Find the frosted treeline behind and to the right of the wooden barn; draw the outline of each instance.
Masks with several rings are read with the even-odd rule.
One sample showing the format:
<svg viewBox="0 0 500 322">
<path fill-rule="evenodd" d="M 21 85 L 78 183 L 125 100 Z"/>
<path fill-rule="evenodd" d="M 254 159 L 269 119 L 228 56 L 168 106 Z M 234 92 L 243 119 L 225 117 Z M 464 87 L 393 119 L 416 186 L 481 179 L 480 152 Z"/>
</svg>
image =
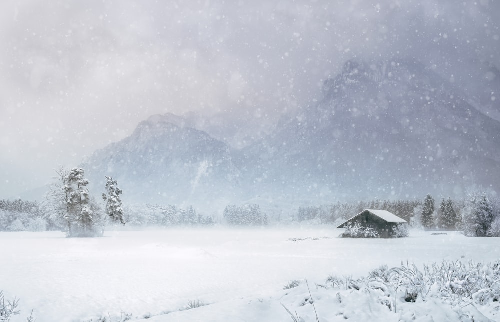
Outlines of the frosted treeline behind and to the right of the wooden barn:
<svg viewBox="0 0 500 322">
<path fill-rule="evenodd" d="M 442 198 L 439 204 L 428 194 L 423 200 L 372 200 L 299 207 L 293 220 L 338 224 L 364 209 L 387 210 L 414 228 L 500 237 L 500 198 L 494 192 L 469 191 L 463 199 Z"/>
</svg>

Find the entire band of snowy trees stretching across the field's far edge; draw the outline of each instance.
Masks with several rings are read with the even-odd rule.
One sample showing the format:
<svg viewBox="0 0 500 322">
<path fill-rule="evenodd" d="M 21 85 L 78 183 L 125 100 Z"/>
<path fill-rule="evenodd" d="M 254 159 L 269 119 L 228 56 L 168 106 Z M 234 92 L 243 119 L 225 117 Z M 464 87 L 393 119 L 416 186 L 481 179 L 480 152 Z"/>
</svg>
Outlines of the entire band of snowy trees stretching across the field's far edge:
<svg viewBox="0 0 500 322">
<path fill-rule="evenodd" d="M 66 178 L 67 176 L 64 176 Z M 270 222 L 257 204 L 230 204 L 216 218 L 196 212 L 192 206 L 186 209 L 175 205 L 125 204 L 121 207 L 115 180 L 108 178 L 103 195 L 108 220 L 126 222 L 128 227 L 211 226 L 215 223 L 233 226 L 261 226 Z M 67 189 L 68 185 L 61 185 Z M 81 184 L 80 184 L 81 186 Z M 61 189 L 57 190 L 61 191 Z M 62 190 L 64 192 L 64 190 Z M 17 200 L 0 200 L 0 231 L 68 231 L 68 224 L 81 227 L 81 215 L 67 212 L 71 199 L 64 193 L 43 203 Z M 70 195 L 70 194 L 69 194 Z M 54 202 L 58 201 L 58 202 Z M 78 201 L 81 198 L 78 198 Z M 92 199 L 90 199 L 92 201 Z M 94 201 L 92 201 L 94 202 Z M 119 203 L 118 203 L 119 202 Z M 75 202 L 75 204 L 77 204 Z M 92 220 L 103 212 L 99 206 L 88 207 Z M 82 209 L 86 210 L 85 207 Z M 463 199 L 442 198 L 436 202 L 430 194 L 422 200 L 370 200 L 351 203 L 331 203 L 299 207 L 290 216 L 273 217 L 272 223 L 291 221 L 316 224 L 339 224 L 364 209 L 387 210 L 405 219 L 413 228 L 425 230 L 458 230 L 468 236 L 500 237 L 500 198 L 495 193 L 469 191 Z M 79 211 L 78 213 L 85 213 Z M 113 217 L 114 216 L 114 217 Z M 104 215 L 102 214 L 102 217 Z M 69 220 L 68 220 L 69 218 Z M 72 219 L 74 218 L 74 219 Z M 83 217 L 85 219 L 85 217 Z M 120 220 L 117 220 L 120 219 Z"/>
</svg>

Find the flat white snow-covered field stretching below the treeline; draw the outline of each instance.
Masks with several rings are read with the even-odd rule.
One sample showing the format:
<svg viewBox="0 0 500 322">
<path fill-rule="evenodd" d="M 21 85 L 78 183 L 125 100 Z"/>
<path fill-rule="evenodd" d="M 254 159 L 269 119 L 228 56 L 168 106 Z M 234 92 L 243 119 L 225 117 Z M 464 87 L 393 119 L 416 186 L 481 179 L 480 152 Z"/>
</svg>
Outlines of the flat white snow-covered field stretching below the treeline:
<svg viewBox="0 0 500 322">
<path fill-rule="evenodd" d="M 499 238 L 412 231 L 401 239 L 340 239 L 339 233 L 331 226 L 108 231 L 104 238 L 1 232 L 0 290 L 20 298 L 14 322 L 25 321 L 31 309 L 37 322 L 117 321 L 125 313 L 149 321 L 292 321 L 282 304 L 315 321 L 305 283 L 282 289 L 307 279 L 320 321 L 397 321 L 413 318 L 404 305 L 415 303 L 398 304 L 394 313 L 348 290 L 339 301 L 339 291 L 316 284 L 332 274 L 366 276 L 383 264 L 500 259 Z M 205 306 L 180 311 L 198 300 Z M 419 307 L 417 320 L 456 319 L 449 305 Z M 494 320 L 498 309 L 491 304 L 483 313 Z"/>
</svg>

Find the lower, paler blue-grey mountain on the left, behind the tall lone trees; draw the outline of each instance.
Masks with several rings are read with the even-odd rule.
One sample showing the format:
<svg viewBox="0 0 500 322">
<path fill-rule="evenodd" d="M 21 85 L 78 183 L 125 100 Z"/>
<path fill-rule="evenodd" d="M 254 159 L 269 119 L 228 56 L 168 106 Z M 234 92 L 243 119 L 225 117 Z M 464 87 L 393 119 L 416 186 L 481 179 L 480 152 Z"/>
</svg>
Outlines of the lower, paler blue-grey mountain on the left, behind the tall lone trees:
<svg viewBox="0 0 500 322">
<path fill-rule="evenodd" d="M 103 187 L 109 175 L 131 201 L 209 206 L 237 190 L 233 153 L 179 117 L 154 115 L 129 137 L 93 153 L 82 167 L 93 189 Z"/>
</svg>

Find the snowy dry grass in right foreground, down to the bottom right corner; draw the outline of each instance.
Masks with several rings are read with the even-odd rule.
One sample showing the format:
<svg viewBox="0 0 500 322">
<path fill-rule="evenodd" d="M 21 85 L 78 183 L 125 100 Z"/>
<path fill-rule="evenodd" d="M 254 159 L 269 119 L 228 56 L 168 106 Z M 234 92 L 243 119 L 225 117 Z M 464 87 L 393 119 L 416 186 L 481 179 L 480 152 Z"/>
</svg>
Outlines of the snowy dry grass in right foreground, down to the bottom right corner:
<svg viewBox="0 0 500 322">
<path fill-rule="evenodd" d="M 487 321 L 480 311 L 492 304 L 495 307 L 487 314 L 500 317 L 497 303 L 500 301 L 500 261 L 488 264 L 443 261 L 424 265 L 423 270 L 414 264 L 382 266 L 364 278 L 330 276 L 326 283 L 330 289 L 339 290 L 335 295 L 339 304 L 351 306 L 346 301 L 352 300 L 354 292 L 359 295 L 354 298 L 368 296 L 403 320 L 421 318 L 418 311 L 425 310 L 423 307 L 430 303 L 449 305 L 448 308 L 441 305 L 443 311 L 448 311 L 442 313 L 442 320 L 453 320 L 449 316 L 451 309 L 456 320 Z M 338 315 L 348 318 L 345 312 L 337 312 Z M 352 312 L 347 315 L 352 316 Z M 435 316 L 434 319 L 439 320 Z"/>
</svg>

